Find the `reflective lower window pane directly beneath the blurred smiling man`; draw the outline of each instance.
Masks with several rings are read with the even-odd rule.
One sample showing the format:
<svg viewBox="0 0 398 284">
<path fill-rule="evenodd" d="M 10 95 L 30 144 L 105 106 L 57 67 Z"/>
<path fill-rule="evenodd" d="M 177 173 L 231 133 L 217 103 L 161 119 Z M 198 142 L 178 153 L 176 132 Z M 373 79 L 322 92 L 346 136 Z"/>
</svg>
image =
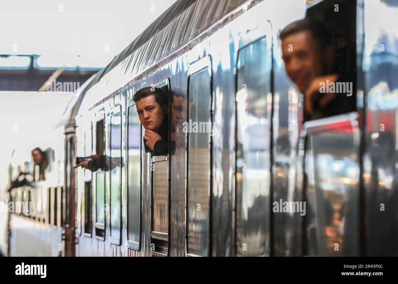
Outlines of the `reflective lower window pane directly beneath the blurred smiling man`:
<svg viewBox="0 0 398 284">
<path fill-rule="evenodd" d="M 304 123 L 303 131 L 306 133 L 306 204 L 302 206 L 306 232 L 304 254 L 359 255 L 360 138 L 357 114 L 309 121 Z"/>
</svg>

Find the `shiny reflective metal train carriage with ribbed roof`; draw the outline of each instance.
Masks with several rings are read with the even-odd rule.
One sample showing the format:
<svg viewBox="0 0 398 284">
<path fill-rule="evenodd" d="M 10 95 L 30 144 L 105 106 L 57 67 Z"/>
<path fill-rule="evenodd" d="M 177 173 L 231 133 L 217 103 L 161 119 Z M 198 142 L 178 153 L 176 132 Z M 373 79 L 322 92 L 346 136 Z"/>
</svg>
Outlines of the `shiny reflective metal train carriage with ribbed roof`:
<svg viewBox="0 0 398 284">
<path fill-rule="evenodd" d="M 397 2 L 299 2 L 179 1 L 81 87 L 59 128 L 64 182 L 48 185 L 64 204 L 49 255 L 398 255 Z M 278 33 L 310 13 L 345 19 L 357 112 L 302 124 Z M 145 86 L 174 96 L 166 157 L 143 151 L 131 98 Z M 190 118 L 213 133 L 186 133 Z M 73 169 L 100 148 L 107 170 Z M 305 215 L 279 212 L 303 201 Z M 13 215 L 14 255 L 60 231 Z"/>
</svg>

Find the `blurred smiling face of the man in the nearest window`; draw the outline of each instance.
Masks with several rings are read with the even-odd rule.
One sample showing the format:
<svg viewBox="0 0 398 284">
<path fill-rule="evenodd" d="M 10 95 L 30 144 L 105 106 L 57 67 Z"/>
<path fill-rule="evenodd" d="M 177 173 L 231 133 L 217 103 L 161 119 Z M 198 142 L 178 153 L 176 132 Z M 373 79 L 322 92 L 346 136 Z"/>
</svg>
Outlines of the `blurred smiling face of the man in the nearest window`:
<svg viewBox="0 0 398 284">
<path fill-rule="evenodd" d="M 286 72 L 304 93 L 311 81 L 322 75 L 322 52 L 309 31 L 293 33 L 281 42 Z"/>
</svg>

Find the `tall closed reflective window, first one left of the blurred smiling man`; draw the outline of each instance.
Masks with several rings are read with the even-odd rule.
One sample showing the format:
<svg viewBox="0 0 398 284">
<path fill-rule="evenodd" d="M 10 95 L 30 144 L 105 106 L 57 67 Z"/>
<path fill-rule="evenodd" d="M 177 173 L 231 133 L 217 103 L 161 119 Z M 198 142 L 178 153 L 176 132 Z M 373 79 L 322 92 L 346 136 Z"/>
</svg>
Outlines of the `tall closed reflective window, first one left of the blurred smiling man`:
<svg viewBox="0 0 398 284">
<path fill-rule="evenodd" d="M 236 255 L 269 255 L 271 43 L 238 51 L 236 76 Z"/>
</svg>

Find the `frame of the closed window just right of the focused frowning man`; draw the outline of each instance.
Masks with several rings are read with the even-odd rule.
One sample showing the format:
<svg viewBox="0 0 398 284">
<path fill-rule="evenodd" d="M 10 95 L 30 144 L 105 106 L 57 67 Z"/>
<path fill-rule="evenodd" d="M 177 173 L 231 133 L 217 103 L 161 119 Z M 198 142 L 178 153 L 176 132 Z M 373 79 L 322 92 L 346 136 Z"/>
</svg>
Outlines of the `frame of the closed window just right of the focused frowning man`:
<svg viewBox="0 0 398 284">
<path fill-rule="evenodd" d="M 188 67 L 188 76 L 187 76 L 187 121 L 189 121 L 189 81 L 192 75 L 207 69 L 210 75 L 210 121 L 214 123 L 214 105 L 215 98 L 213 94 L 213 65 L 212 59 L 210 55 L 206 55 L 201 59 L 191 63 Z M 186 182 L 185 182 L 185 256 L 189 257 L 199 257 L 199 255 L 195 255 L 193 253 L 188 252 L 188 219 L 189 219 L 189 208 L 188 208 L 188 196 L 189 196 L 189 133 L 186 133 L 187 137 L 187 148 L 186 148 Z M 213 202 L 213 136 L 210 136 L 210 196 L 209 196 L 209 254 L 207 256 L 212 255 L 212 202 Z"/>
</svg>

